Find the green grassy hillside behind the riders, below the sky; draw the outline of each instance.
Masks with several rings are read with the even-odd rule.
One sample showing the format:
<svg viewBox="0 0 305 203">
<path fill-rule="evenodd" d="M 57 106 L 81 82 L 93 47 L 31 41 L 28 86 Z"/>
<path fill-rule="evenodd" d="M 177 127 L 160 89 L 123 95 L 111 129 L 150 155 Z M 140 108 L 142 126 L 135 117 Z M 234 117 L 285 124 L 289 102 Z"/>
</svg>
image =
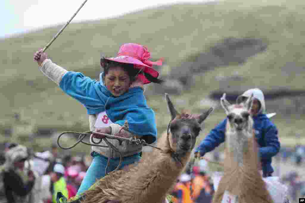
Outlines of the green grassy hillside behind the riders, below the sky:
<svg viewBox="0 0 305 203">
<path fill-rule="evenodd" d="M 183 101 L 194 111 L 208 105 L 198 102 L 219 88 L 215 77 L 234 71 L 247 78 L 247 86 L 267 89 L 285 86 L 304 89 L 303 36 L 305 2 L 286 1 L 224 1 L 210 4 L 181 4 L 134 12 L 118 18 L 71 23 L 46 51 L 57 64 L 68 70 L 80 71 L 97 78 L 100 56 L 114 56 L 120 45 L 133 42 L 149 48 L 153 58 L 164 57 L 174 67 L 189 56 L 207 51 L 224 38 L 259 38 L 267 50 L 248 59 L 244 65 L 219 67 L 196 76 L 196 85 L 185 90 Z M 43 48 L 62 27 L 50 27 L 17 37 L 0 40 L 0 125 L 9 127 L 13 115 L 20 113 L 21 121 L 34 128 L 88 130 L 84 107 L 63 94 L 55 83 L 46 78 L 33 62 L 33 53 Z M 293 62 L 297 72 L 285 68 Z M 163 96 L 149 96 L 149 105 L 156 111 L 157 127 L 166 128 L 169 114 Z M 268 105 L 268 104 L 267 104 Z M 224 117 L 217 109 L 206 121 L 204 136 Z M 303 130 L 304 116 L 277 115 L 274 122 L 282 137 Z M 293 134 L 294 135 L 294 134 Z M 284 138 L 283 138 L 284 139 Z"/>
</svg>

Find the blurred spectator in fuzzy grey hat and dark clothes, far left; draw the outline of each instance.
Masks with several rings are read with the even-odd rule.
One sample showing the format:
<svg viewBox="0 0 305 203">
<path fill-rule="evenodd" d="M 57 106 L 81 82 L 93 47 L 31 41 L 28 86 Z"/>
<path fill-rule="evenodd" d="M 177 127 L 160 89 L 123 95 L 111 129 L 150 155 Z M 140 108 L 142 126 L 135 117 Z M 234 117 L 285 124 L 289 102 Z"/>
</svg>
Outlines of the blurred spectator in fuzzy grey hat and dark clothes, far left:
<svg viewBox="0 0 305 203">
<path fill-rule="evenodd" d="M 30 200 L 35 184 L 33 171 L 25 170 L 28 161 L 28 150 L 23 145 L 14 145 L 5 152 L 3 165 L 3 186 L 8 203 L 21 203 Z"/>
</svg>

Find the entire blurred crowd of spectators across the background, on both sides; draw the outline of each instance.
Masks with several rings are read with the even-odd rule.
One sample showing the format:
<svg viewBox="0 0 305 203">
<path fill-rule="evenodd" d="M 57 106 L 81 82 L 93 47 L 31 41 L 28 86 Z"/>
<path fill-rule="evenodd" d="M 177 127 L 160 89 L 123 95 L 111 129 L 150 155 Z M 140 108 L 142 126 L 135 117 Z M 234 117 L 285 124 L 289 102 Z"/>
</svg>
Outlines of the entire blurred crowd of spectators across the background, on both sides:
<svg viewBox="0 0 305 203">
<path fill-rule="evenodd" d="M 305 148 L 282 148 L 282 161 L 291 161 L 302 167 Z M 219 160 L 219 153 L 213 156 Z M 17 143 L 4 143 L 0 153 L 0 203 L 56 203 L 56 194 L 74 197 L 90 166 L 92 157 L 58 155 L 57 145 L 44 152 Z M 305 196 L 302 175 L 292 171 L 283 176 L 292 201 Z M 213 182 L 206 160 L 189 164 L 171 191 L 173 203 L 209 203 L 214 194 Z"/>
</svg>

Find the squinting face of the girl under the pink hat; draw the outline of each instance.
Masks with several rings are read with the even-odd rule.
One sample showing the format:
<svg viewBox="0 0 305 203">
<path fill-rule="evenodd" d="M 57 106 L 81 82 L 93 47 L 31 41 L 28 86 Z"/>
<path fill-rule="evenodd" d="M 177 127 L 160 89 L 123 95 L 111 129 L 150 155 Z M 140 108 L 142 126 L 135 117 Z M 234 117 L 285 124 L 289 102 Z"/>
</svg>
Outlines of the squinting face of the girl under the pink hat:
<svg viewBox="0 0 305 203">
<path fill-rule="evenodd" d="M 109 68 L 104 79 L 107 89 L 117 97 L 128 91 L 131 84 L 129 75 L 120 66 Z"/>
</svg>

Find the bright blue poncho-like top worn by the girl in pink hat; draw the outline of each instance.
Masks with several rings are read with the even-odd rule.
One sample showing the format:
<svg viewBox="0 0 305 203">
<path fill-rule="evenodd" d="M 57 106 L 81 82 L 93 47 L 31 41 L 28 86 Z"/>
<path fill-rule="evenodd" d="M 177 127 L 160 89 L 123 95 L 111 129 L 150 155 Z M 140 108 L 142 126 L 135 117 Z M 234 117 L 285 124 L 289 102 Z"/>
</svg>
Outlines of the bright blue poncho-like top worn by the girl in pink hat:
<svg viewBox="0 0 305 203">
<path fill-rule="evenodd" d="M 127 120 L 130 132 L 144 136 L 143 139 L 148 143 L 156 141 L 155 113 L 147 106 L 142 88 L 133 87 L 121 96 L 114 97 L 102 81 L 92 80 L 73 71 L 63 75 L 59 87 L 82 103 L 88 114 L 99 114 L 106 110 L 113 123 L 123 126 Z"/>
</svg>

